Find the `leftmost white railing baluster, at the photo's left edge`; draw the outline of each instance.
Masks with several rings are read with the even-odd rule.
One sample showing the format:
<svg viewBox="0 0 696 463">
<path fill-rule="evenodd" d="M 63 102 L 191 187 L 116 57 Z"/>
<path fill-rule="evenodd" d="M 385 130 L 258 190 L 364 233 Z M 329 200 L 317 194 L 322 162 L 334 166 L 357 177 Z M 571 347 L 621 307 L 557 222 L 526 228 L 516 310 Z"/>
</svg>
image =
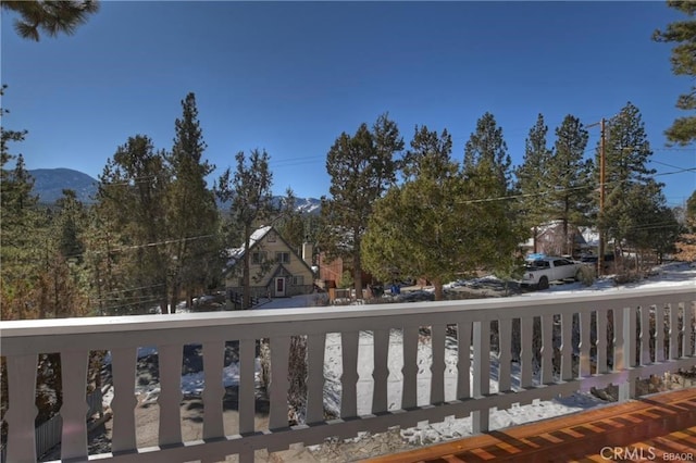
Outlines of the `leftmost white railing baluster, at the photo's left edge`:
<svg viewBox="0 0 696 463">
<path fill-rule="evenodd" d="M 8 356 L 8 462 L 34 463 L 36 459 L 36 355 Z"/>
</svg>

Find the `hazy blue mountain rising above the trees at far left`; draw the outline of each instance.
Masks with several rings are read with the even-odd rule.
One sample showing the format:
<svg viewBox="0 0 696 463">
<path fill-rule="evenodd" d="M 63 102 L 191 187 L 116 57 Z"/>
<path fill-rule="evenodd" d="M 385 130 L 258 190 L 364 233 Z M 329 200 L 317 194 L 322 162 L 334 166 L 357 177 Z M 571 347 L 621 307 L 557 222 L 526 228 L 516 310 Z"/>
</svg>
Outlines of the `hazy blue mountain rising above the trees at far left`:
<svg viewBox="0 0 696 463">
<path fill-rule="evenodd" d="M 63 196 L 64 189 L 74 190 L 77 199 L 85 203 L 94 201 L 97 179 L 72 168 L 35 168 L 28 171 L 34 177 L 34 195 L 39 202 L 52 204 Z"/>
</svg>

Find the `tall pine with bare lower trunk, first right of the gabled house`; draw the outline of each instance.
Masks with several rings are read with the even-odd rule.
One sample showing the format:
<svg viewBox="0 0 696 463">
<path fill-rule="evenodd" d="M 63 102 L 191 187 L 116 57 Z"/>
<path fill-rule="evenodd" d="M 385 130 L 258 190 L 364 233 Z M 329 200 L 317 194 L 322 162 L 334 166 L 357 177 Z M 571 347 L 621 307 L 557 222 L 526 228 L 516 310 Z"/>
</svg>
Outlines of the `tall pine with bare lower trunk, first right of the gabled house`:
<svg viewBox="0 0 696 463">
<path fill-rule="evenodd" d="M 361 124 L 353 136 L 343 133 L 326 155 L 331 198 L 322 198 L 322 250 L 352 263 L 356 295 L 362 293 L 362 235 L 374 201 L 396 182 L 395 155 L 403 140 L 387 114 L 372 129 Z M 358 296 L 360 297 L 360 296 Z"/>
</svg>

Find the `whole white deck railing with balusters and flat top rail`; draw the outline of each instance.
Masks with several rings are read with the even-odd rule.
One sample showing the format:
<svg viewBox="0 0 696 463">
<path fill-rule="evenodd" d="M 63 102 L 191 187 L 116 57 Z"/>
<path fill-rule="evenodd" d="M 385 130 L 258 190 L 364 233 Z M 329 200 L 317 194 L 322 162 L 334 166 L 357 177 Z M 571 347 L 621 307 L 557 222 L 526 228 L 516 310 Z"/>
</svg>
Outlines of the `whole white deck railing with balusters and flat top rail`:
<svg viewBox="0 0 696 463">
<path fill-rule="evenodd" d="M 278 451 L 295 442 L 314 445 L 327 437 L 439 422 L 471 415 L 474 431 L 488 429 L 492 408 L 551 399 L 592 387 L 619 386 L 620 399 L 635 395 L 635 379 L 696 366 L 696 290 L 617 290 L 548 299 L 525 297 L 410 304 L 257 310 L 245 312 L 91 317 L 2 322 L 1 353 L 7 358 L 9 425 L 7 460 L 35 462 L 37 356 L 60 352 L 63 377 L 61 459 L 85 461 L 85 414 L 89 351 L 112 358 L 112 453 L 117 462 L 212 462 L 254 450 Z M 657 321 L 651 326 L 651 321 Z M 664 324 L 661 323 L 664 321 Z M 432 349 L 430 400 L 422 398 L 417 353 L 427 327 Z M 657 329 L 656 329 L 657 327 Z M 664 327 L 664 329 L 661 329 Z M 395 331 L 396 330 L 396 331 Z M 373 338 L 371 413 L 358 414 L 360 333 Z M 403 366 L 389 370 L 389 336 L 402 338 Z M 327 334 L 340 334 L 343 375 L 340 417 L 324 421 L 324 352 Z M 494 335 L 492 337 L 492 335 Z M 291 336 L 307 336 L 307 425 L 288 426 L 288 351 Z M 270 339 L 271 385 L 268 429 L 254 428 L 257 340 Z M 493 339 L 493 341 L 492 341 Z M 225 342 L 239 343 L 238 423 L 225 434 L 222 383 Z M 456 365 L 445 353 L 455 342 Z M 203 346 L 203 439 L 182 439 L 179 403 L 184 345 Z M 159 446 L 138 449 L 134 417 L 138 347 L 157 346 L 161 393 Z M 494 362 L 489 352 L 494 352 Z M 359 360 L 361 359 L 361 360 Z M 493 368 L 493 370 L 492 370 Z M 446 370 L 455 371 L 456 399 L 446 401 Z M 513 371 L 519 372 L 514 375 Z M 498 390 L 490 390 L 490 375 Z M 387 405 L 398 378 L 400 406 Z M 422 376 L 421 376 L 422 379 Z M 419 390 L 419 388 L 421 390 Z M 450 395 L 451 396 L 451 395 Z M 94 456 L 92 456 L 94 458 Z"/>
</svg>

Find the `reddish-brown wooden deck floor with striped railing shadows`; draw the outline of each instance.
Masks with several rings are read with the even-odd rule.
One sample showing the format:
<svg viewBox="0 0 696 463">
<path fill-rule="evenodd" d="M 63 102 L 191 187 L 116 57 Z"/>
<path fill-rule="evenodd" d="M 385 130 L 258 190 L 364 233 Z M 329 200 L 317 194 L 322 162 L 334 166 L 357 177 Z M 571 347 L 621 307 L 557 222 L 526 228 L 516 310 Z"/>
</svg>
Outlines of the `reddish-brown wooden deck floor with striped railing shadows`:
<svg viewBox="0 0 696 463">
<path fill-rule="evenodd" d="M 371 460 L 696 462 L 696 387 Z"/>
</svg>

